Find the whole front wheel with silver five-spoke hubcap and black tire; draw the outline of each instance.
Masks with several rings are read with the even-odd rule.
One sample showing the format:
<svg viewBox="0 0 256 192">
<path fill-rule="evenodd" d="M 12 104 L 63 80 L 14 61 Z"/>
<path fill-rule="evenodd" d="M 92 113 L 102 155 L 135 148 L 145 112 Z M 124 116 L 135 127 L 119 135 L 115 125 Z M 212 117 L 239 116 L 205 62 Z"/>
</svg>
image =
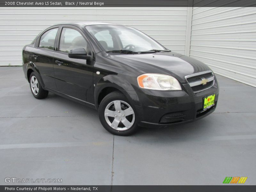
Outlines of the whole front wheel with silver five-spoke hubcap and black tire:
<svg viewBox="0 0 256 192">
<path fill-rule="evenodd" d="M 138 129 L 138 118 L 136 118 L 136 112 L 132 106 L 124 94 L 120 92 L 109 93 L 100 102 L 99 118 L 101 124 L 114 135 L 128 136 L 135 133 Z"/>
</svg>

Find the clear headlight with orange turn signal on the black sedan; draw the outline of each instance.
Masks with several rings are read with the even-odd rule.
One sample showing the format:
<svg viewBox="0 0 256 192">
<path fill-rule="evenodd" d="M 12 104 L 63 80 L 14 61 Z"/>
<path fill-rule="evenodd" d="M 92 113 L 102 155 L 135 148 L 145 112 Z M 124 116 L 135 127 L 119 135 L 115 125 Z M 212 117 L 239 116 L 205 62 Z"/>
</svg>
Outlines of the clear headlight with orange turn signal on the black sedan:
<svg viewBox="0 0 256 192">
<path fill-rule="evenodd" d="M 144 89 L 174 91 L 181 90 L 180 83 L 170 75 L 146 73 L 137 77 L 138 84 Z"/>
</svg>

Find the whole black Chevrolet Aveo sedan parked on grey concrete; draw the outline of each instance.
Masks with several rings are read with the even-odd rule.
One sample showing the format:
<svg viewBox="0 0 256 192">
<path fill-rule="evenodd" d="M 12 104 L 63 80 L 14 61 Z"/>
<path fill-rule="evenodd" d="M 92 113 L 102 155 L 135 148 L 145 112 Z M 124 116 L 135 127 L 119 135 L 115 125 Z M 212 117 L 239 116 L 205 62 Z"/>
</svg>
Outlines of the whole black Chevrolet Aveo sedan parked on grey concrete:
<svg viewBox="0 0 256 192">
<path fill-rule="evenodd" d="M 36 99 L 50 91 L 96 108 L 104 128 L 123 136 L 207 116 L 219 96 L 204 63 L 107 23 L 45 29 L 23 48 L 23 70 Z"/>
</svg>

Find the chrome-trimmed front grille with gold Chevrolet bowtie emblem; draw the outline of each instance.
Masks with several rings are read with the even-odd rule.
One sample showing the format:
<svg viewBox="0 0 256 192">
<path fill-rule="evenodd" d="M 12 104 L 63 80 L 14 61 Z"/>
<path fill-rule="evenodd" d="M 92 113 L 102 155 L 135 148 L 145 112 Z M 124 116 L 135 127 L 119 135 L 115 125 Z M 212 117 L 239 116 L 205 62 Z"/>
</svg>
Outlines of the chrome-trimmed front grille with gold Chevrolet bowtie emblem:
<svg viewBox="0 0 256 192">
<path fill-rule="evenodd" d="M 212 87 L 214 75 L 212 71 L 204 71 L 185 76 L 193 92 L 200 92 Z"/>
</svg>

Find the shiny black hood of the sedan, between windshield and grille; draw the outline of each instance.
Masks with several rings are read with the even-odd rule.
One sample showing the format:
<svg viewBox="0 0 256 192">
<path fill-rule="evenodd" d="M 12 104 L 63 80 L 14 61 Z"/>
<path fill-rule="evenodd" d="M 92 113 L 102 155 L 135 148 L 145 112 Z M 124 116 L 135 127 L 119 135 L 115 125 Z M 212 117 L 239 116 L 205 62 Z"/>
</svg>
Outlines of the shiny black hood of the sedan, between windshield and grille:
<svg viewBox="0 0 256 192">
<path fill-rule="evenodd" d="M 126 63 L 142 73 L 160 73 L 172 75 L 180 83 L 186 83 L 184 76 L 211 70 L 196 59 L 175 52 L 143 53 L 143 54 L 111 54 L 111 59 Z"/>
</svg>

